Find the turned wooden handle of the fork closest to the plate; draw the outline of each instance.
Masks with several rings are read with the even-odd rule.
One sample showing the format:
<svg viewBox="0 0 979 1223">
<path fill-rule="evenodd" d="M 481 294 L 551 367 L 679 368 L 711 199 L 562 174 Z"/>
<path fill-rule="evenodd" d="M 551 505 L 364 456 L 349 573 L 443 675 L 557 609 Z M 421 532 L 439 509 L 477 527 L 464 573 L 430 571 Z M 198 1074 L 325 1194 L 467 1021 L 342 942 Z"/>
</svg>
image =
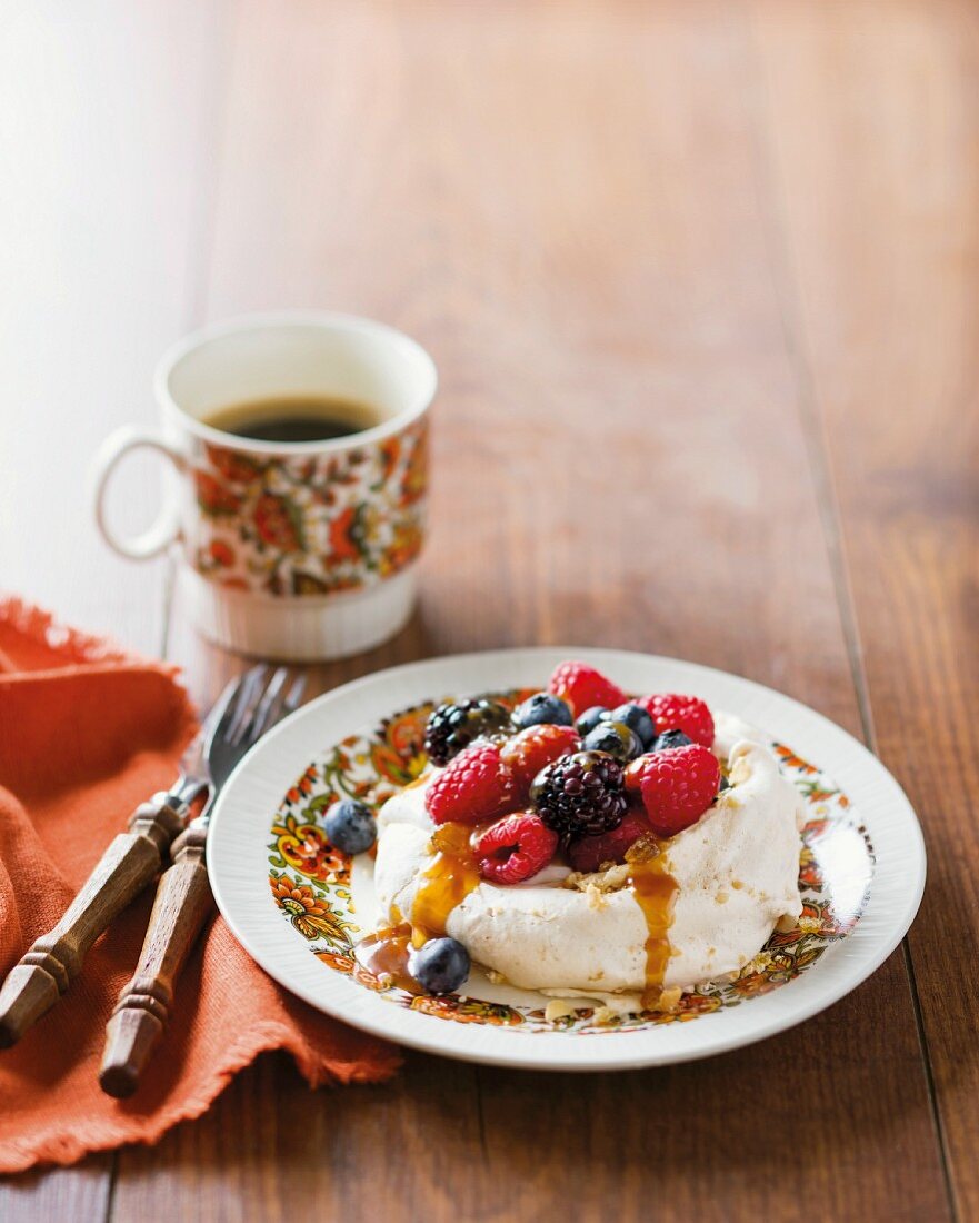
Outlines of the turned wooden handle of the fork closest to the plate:
<svg viewBox="0 0 979 1223">
<path fill-rule="evenodd" d="M 204 866 L 207 829 L 191 827 L 174 845 L 174 865 L 164 872 L 139 955 L 139 965 L 119 996 L 105 1029 L 99 1084 L 110 1096 L 131 1096 L 143 1066 L 164 1032 L 174 985 L 214 898 Z"/>
</svg>

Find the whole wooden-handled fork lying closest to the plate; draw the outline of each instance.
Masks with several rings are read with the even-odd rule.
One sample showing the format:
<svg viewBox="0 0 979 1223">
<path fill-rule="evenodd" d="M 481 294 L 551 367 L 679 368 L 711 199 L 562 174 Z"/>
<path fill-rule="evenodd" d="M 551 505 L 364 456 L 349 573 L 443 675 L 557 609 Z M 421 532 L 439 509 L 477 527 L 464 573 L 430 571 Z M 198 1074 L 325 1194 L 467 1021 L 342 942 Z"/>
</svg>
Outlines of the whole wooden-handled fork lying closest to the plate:
<svg viewBox="0 0 979 1223">
<path fill-rule="evenodd" d="M 215 910 L 205 865 L 214 801 L 246 752 L 302 700 L 304 675 L 290 685 L 287 668 L 280 667 L 271 675 L 269 670 L 252 668 L 229 685 L 219 702 L 221 714 L 204 741 L 202 764 L 210 784 L 208 800 L 172 843 L 172 865 L 156 887 L 139 963 L 105 1029 L 99 1084 L 110 1096 L 125 1098 L 138 1087 L 170 1016 L 177 975 Z"/>
</svg>

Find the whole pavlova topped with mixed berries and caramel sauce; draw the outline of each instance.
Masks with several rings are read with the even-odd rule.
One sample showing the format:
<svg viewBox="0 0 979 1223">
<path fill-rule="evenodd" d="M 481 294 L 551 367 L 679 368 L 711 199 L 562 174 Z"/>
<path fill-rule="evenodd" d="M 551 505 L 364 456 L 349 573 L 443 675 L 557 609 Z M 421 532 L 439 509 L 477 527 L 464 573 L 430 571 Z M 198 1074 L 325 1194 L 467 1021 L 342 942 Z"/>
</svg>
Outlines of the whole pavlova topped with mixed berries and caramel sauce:
<svg viewBox="0 0 979 1223">
<path fill-rule="evenodd" d="M 584 663 L 507 709 L 430 715 L 429 764 L 378 816 L 367 971 L 449 993 L 490 980 L 617 1011 L 670 1009 L 794 925 L 798 791 L 763 735 L 693 696 L 631 698 Z M 340 849 L 365 823 L 328 815 Z"/>
</svg>

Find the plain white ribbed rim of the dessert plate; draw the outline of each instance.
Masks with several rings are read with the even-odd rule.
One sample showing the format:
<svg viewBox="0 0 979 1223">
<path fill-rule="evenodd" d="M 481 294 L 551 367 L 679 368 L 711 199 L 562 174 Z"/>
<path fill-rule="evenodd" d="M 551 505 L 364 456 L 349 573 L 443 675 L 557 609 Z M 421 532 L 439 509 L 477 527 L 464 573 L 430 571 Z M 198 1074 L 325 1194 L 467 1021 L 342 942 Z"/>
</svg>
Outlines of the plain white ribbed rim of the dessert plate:
<svg viewBox="0 0 979 1223">
<path fill-rule="evenodd" d="M 628 1032 L 528 1033 L 394 1007 L 345 975 L 325 971 L 271 903 L 254 904 L 268 874 L 270 818 L 286 789 L 331 742 L 424 700 L 543 684 L 566 658 L 590 663 L 631 691 L 695 692 L 825 769 L 851 799 L 875 854 L 870 895 L 856 928 L 794 981 L 692 1022 Z M 538 1070 L 617 1070 L 725 1053 L 838 1002 L 876 971 L 907 933 L 922 900 L 926 860 L 918 818 L 892 774 L 846 730 L 794 698 L 659 654 L 530 646 L 407 663 L 303 706 L 257 744 L 226 783 L 211 817 L 208 868 L 218 906 L 238 942 L 275 981 L 318 1010 L 442 1057 Z"/>
</svg>

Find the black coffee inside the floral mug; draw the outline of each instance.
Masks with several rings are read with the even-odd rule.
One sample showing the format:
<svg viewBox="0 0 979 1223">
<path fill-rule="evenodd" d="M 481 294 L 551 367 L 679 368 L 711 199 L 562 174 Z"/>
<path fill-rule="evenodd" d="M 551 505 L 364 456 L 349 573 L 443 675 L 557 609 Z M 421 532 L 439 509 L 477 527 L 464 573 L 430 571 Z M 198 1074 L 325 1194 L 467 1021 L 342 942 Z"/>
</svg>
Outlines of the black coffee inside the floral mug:
<svg viewBox="0 0 979 1223">
<path fill-rule="evenodd" d="M 331 395 L 270 395 L 226 404 L 202 417 L 204 424 L 255 442 L 329 442 L 381 423 L 370 404 Z"/>
</svg>

